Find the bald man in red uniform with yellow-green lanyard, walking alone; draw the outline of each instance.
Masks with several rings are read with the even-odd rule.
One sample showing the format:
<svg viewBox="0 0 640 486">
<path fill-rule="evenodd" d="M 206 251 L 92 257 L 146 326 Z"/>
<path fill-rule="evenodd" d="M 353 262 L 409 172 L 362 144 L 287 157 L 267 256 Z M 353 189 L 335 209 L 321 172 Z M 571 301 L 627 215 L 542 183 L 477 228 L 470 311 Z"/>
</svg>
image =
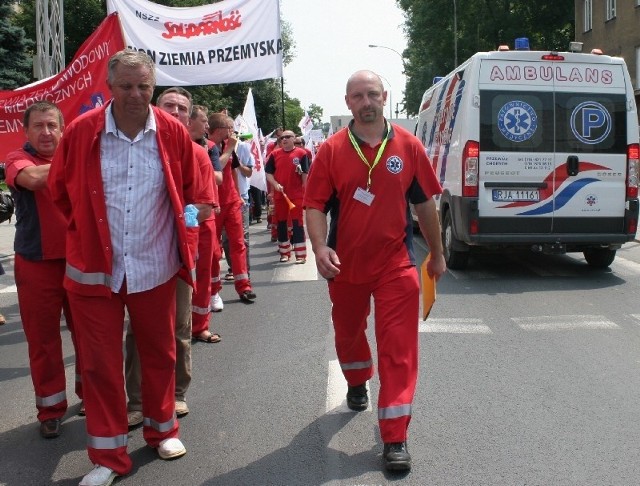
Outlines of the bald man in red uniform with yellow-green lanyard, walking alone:
<svg viewBox="0 0 640 486">
<path fill-rule="evenodd" d="M 442 189 L 420 141 L 385 120 L 386 99 L 375 73 L 358 71 L 349 78 L 345 101 L 353 121 L 318 150 L 304 204 L 318 271 L 329 281 L 347 406 L 357 411 L 369 404 L 366 382 L 374 369 L 365 330 L 373 296 L 383 458 L 386 469 L 406 471 L 420 306 L 409 202 L 429 244 L 428 273 L 437 279 L 446 264 L 433 196 Z"/>
</svg>

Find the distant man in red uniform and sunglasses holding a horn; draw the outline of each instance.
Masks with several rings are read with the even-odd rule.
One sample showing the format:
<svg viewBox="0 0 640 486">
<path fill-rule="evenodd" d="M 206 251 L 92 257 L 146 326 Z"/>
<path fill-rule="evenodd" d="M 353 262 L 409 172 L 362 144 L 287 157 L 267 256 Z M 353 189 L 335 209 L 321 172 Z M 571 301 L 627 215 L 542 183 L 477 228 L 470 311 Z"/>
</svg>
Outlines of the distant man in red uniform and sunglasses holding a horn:
<svg viewBox="0 0 640 486">
<path fill-rule="evenodd" d="M 307 152 L 294 145 L 295 134 L 285 130 L 280 136 L 281 148 L 274 150 L 264 168 L 267 181 L 274 190 L 275 220 L 278 227 L 278 252 L 280 261 L 291 257 L 291 246 L 296 263 L 307 261 L 307 243 L 302 215 L 304 186 L 309 172 Z M 292 235 L 289 241 L 288 220 Z"/>
</svg>

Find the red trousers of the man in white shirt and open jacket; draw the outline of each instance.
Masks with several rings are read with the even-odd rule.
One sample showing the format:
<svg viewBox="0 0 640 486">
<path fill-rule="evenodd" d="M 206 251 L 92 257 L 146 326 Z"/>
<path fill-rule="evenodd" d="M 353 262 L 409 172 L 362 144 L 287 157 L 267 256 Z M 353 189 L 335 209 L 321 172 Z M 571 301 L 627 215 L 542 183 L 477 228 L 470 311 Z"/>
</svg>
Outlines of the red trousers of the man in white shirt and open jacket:
<svg viewBox="0 0 640 486">
<path fill-rule="evenodd" d="M 178 437 L 175 416 L 176 277 L 145 292 L 127 294 L 126 282 L 110 297 L 69 292 L 84 352 L 82 381 L 87 410 L 87 450 L 94 464 L 123 475 L 131 471 L 127 454 L 127 399 L 122 332 L 125 306 L 142 368 L 143 437 L 151 447 Z"/>
</svg>

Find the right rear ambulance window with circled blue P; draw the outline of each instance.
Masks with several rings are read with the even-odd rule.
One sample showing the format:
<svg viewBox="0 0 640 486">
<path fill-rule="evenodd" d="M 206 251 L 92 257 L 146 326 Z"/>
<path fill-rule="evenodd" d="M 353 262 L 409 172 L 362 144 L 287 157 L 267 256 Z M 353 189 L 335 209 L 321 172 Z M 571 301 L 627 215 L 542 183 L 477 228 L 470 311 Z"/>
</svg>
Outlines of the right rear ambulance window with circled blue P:
<svg viewBox="0 0 640 486">
<path fill-rule="evenodd" d="M 557 152 L 626 153 L 624 95 L 556 93 L 556 134 Z"/>
</svg>

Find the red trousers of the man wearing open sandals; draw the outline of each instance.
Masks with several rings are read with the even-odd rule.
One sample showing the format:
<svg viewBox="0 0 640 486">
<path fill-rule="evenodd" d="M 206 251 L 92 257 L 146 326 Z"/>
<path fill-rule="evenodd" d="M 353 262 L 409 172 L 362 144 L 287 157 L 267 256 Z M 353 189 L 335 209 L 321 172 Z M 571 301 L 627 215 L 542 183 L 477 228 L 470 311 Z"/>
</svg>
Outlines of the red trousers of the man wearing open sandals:
<svg viewBox="0 0 640 486">
<path fill-rule="evenodd" d="M 191 335 L 194 337 L 209 329 L 211 266 L 214 259 L 220 262 L 220 244 L 216 236 L 216 220 L 211 217 L 200 223 L 200 235 L 198 237 L 196 290 L 191 297 Z M 218 272 L 220 272 L 219 263 Z"/>
</svg>

